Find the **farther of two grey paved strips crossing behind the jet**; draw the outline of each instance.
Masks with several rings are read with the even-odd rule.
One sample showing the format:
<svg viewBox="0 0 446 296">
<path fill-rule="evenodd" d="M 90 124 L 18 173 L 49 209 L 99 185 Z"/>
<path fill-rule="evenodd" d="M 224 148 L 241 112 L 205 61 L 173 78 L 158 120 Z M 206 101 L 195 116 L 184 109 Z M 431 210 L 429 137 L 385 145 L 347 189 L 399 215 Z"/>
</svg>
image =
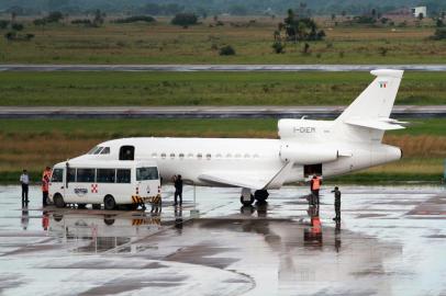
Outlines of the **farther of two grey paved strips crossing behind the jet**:
<svg viewBox="0 0 446 296">
<path fill-rule="evenodd" d="M 406 71 L 446 71 L 438 65 L 29 65 L 3 64 L 0 71 L 370 71 L 379 68 Z"/>
</svg>

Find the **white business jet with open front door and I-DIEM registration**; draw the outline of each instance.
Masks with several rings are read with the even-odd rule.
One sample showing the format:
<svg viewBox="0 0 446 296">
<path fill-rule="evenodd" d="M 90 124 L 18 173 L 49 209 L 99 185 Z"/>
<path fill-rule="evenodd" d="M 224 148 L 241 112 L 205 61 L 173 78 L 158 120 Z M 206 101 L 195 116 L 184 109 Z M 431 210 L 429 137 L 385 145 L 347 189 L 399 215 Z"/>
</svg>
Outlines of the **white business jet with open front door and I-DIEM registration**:
<svg viewBox="0 0 446 296">
<path fill-rule="evenodd" d="M 244 204 L 264 201 L 267 190 L 313 174 L 330 178 L 402 157 L 400 148 L 381 141 L 386 130 L 404 128 L 389 118 L 403 71 L 371 75 L 376 79 L 335 121 L 280 119 L 278 139 L 122 138 L 79 158 L 156 160 L 165 181 L 181 174 L 194 185 L 241 187 Z"/>
</svg>

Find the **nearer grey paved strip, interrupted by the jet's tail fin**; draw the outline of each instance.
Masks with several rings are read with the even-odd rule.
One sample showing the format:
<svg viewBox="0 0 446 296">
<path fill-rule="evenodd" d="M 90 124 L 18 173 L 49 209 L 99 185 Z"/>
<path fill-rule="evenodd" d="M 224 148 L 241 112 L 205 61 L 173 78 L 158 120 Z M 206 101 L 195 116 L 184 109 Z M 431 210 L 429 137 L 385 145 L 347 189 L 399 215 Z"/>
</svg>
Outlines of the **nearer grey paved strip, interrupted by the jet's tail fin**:
<svg viewBox="0 0 446 296">
<path fill-rule="evenodd" d="M 345 106 L 1 106 L 0 118 L 334 118 Z M 446 105 L 395 105 L 395 118 L 446 117 Z"/>
</svg>

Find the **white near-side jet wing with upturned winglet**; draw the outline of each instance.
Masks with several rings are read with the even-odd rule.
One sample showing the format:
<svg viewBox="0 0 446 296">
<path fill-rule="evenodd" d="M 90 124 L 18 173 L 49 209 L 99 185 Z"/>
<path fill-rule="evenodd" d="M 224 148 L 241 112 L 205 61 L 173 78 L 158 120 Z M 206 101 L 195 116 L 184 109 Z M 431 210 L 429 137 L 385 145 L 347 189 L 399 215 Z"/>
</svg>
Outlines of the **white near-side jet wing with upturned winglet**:
<svg viewBox="0 0 446 296">
<path fill-rule="evenodd" d="M 265 187 L 280 187 L 289 174 L 292 162 L 287 162 L 277 172 L 244 172 L 244 171 L 214 171 L 202 173 L 198 178 L 205 182 L 220 185 L 230 185 L 252 190 L 263 190 Z"/>
</svg>

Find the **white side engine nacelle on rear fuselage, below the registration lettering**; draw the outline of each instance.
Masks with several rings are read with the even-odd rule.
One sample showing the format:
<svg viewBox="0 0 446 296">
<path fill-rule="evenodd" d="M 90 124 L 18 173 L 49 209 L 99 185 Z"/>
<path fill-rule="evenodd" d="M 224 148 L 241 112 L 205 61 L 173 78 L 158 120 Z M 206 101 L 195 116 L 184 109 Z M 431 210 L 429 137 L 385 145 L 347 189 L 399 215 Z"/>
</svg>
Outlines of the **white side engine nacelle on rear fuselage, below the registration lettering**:
<svg viewBox="0 0 446 296">
<path fill-rule="evenodd" d="M 280 148 L 280 159 L 298 164 L 316 164 L 334 161 L 339 157 L 338 150 L 326 145 L 302 145 L 283 143 Z"/>
</svg>

